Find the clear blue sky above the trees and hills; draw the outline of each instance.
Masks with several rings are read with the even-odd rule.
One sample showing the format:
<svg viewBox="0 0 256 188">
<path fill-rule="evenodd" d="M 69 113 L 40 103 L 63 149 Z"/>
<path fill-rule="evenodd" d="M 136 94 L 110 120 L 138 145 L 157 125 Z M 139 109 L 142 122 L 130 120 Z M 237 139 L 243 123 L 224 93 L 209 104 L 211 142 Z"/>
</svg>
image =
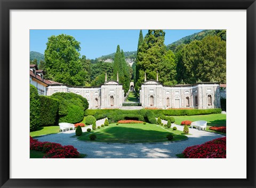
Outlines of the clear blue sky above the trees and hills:
<svg viewBox="0 0 256 188">
<path fill-rule="evenodd" d="M 145 37 L 148 30 L 142 30 Z M 165 45 L 202 30 L 164 30 Z M 117 45 L 124 52 L 137 50 L 140 30 L 30 30 L 30 51 L 44 54 L 46 42 L 52 35 L 66 34 L 81 42 L 80 54 L 95 59 L 116 52 Z"/>
</svg>

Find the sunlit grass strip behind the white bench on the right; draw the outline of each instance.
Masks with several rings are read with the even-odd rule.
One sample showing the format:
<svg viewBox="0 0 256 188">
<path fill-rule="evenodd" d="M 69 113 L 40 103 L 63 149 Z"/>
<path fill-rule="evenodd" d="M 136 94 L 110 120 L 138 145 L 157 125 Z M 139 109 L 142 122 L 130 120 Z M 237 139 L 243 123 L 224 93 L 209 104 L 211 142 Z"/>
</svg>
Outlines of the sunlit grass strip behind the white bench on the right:
<svg viewBox="0 0 256 188">
<path fill-rule="evenodd" d="M 226 126 L 226 114 L 208 114 L 197 116 L 173 116 L 175 124 L 180 125 L 182 121 L 189 120 L 191 122 L 204 120 L 207 121 L 207 126 Z"/>
</svg>

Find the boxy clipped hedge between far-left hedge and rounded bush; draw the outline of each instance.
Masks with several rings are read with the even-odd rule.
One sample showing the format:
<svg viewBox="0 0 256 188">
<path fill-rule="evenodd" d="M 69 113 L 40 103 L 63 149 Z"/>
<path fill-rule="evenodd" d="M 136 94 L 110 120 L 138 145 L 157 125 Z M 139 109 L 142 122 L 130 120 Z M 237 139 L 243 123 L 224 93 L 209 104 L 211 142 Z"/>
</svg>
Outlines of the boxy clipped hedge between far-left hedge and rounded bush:
<svg viewBox="0 0 256 188">
<path fill-rule="evenodd" d="M 59 102 L 46 96 L 39 96 L 40 126 L 52 126 L 56 124 Z"/>
</svg>

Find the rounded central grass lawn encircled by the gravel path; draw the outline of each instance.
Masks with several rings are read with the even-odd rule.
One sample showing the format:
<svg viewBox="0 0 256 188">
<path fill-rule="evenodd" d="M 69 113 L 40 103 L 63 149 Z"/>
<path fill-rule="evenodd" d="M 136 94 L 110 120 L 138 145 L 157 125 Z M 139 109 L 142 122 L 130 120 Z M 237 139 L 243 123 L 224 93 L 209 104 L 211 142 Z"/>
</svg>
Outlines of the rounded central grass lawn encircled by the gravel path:
<svg viewBox="0 0 256 188">
<path fill-rule="evenodd" d="M 102 129 L 103 128 L 103 129 Z M 98 132 L 95 132 L 98 131 Z M 164 126 L 156 124 L 110 124 L 95 130 L 97 140 L 94 142 L 119 142 L 119 143 L 145 143 L 145 142 L 165 142 L 167 134 L 173 134 L 172 141 L 187 139 L 186 135 L 179 130 L 173 131 Z M 79 136 L 79 140 L 90 141 L 92 132 L 84 132 Z"/>
</svg>

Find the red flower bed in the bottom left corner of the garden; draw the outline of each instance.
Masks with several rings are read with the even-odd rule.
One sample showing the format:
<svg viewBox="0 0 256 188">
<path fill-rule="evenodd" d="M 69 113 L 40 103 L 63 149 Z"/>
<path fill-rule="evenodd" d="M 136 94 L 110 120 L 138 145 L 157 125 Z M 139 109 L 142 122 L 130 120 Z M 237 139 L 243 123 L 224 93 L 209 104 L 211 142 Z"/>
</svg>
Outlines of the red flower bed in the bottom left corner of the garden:
<svg viewBox="0 0 256 188">
<path fill-rule="evenodd" d="M 77 158 L 79 152 L 73 146 L 61 146 L 54 142 L 39 142 L 30 136 L 30 150 L 45 152 L 43 158 Z"/>
</svg>

